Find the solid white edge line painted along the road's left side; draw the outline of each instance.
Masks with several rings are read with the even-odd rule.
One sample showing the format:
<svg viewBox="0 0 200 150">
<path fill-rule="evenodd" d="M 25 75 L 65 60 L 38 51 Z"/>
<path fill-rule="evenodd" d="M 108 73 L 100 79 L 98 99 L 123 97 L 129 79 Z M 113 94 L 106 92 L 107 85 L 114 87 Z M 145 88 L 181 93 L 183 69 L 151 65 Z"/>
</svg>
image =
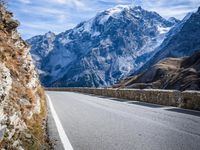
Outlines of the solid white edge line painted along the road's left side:
<svg viewBox="0 0 200 150">
<path fill-rule="evenodd" d="M 49 101 L 49 106 L 50 106 L 50 109 L 51 109 L 51 113 L 52 113 L 54 121 L 56 123 L 56 127 L 58 129 L 58 133 L 59 133 L 61 142 L 63 144 L 63 147 L 64 147 L 65 150 L 73 150 L 73 147 L 72 147 L 71 143 L 69 142 L 69 139 L 68 139 L 68 137 L 67 137 L 67 135 L 65 133 L 65 130 L 64 130 L 64 128 L 63 128 L 63 126 L 62 126 L 62 124 L 61 124 L 61 122 L 60 122 L 60 120 L 58 118 L 58 115 L 56 114 L 56 111 L 55 111 L 55 109 L 53 107 L 53 104 L 51 102 L 51 98 L 49 97 L 48 94 L 46 94 L 46 96 L 47 96 L 47 99 Z"/>
</svg>

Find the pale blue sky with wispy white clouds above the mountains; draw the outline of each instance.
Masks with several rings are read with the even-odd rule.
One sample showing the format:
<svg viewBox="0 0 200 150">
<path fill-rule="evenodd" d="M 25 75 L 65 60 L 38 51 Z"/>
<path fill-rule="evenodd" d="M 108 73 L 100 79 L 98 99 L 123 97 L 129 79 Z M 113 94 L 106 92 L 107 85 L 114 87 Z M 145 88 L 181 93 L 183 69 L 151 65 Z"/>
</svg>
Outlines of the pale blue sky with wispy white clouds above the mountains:
<svg viewBox="0 0 200 150">
<path fill-rule="evenodd" d="M 196 11 L 200 0 L 134 0 L 135 5 L 158 12 L 165 18 L 182 19 Z M 27 39 L 48 31 L 55 33 L 73 28 L 81 21 L 116 5 L 130 5 L 131 0 L 10 0 L 8 9 L 21 22 L 19 32 Z"/>
</svg>

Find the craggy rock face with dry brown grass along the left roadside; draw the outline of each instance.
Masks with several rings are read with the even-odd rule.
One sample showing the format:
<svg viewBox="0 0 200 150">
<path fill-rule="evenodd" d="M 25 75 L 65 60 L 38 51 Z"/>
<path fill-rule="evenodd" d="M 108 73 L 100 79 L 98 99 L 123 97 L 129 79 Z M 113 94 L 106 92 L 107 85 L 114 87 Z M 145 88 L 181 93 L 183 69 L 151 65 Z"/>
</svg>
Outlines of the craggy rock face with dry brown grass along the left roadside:
<svg viewBox="0 0 200 150">
<path fill-rule="evenodd" d="M 0 5 L 0 148 L 21 150 L 29 142 L 35 144 L 25 135 L 34 132 L 30 125 L 43 109 L 43 94 L 29 48 L 16 30 L 18 25 L 12 13 Z"/>
</svg>

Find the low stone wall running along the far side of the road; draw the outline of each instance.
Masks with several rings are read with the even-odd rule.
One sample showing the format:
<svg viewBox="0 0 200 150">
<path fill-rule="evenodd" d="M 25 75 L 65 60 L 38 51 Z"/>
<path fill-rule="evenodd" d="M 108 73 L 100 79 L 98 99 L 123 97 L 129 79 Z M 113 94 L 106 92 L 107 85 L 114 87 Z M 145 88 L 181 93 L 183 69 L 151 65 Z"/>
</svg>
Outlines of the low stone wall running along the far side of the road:
<svg viewBox="0 0 200 150">
<path fill-rule="evenodd" d="M 177 91 L 157 89 L 113 89 L 113 88 L 47 88 L 48 91 L 68 91 L 124 100 L 141 101 L 165 106 L 200 110 L 200 91 Z"/>
</svg>

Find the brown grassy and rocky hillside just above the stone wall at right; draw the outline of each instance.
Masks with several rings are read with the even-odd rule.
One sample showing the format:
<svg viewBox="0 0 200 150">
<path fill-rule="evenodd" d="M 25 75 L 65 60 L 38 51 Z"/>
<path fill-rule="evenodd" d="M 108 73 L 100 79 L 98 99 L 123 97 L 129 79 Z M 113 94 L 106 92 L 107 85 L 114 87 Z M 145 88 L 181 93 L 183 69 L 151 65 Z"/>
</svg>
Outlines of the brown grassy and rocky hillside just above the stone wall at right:
<svg viewBox="0 0 200 150">
<path fill-rule="evenodd" d="M 164 59 L 114 87 L 200 90 L 200 51 L 190 57 Z"/>
</svg>

